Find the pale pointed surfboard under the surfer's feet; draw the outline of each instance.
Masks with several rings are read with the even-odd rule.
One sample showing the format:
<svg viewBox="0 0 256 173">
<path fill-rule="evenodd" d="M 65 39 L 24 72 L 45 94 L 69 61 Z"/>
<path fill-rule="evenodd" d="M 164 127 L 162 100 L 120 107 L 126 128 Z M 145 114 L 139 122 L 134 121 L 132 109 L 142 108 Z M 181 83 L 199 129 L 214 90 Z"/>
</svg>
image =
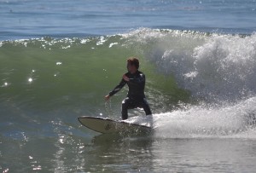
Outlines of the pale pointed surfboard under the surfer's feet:
<svg viewBox="0 0 256 173">
<path fill-rule="evenodd" d="M 102 134 L 113 134 L 113 133 L 148 133 L 152 130 L 146 125 L 131 124 L 125 121 L 117 121 L 109 118 L 101 117 L 80 117 L 79 122 L 90 130 Z"/>
</svg>

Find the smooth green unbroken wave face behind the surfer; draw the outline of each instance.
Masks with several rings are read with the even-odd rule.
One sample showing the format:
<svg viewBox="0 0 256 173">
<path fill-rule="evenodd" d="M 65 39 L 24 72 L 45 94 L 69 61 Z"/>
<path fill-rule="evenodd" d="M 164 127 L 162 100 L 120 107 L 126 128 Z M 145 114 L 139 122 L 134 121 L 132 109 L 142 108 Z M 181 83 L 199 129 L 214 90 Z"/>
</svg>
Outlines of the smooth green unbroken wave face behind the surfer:
<svg viewBox="0 0 256 173">
<path fill-rule="evenodd" d="M 51 38 L 4 43 L 0 52 L 2 100 L 20 101 L 30 108 L 86 107 L 84 109 L 89 108 L 91 113 L 104 111 L 103 97 L 119 84 L 130 56 L 141 60 L 149 102 L 161 100 L 163 104 L 175 105 L 177 101 L 188 100 L 189 93 L 178 89 L 172 76 L 157 73 L 140 50 L 125 45 L 125 40 L 119 37 L 107 38 L 108 41 L 97 46 L 100 37 L 90 38 L 86 44 L 79 43 L 79 39 L 61 43 L 62 40 Z M 117 41 L 118 45 L 109 48 L 110 43 Z M 25 42 L 28 42 L 26 46 Z M 53 42 L 54 45 L 47 45 Z M 70 48 L 63 49 L 66 44 Z M 113 99 L 113 105 L 120 102 L 126 91 Z M 162 101 L 162 97 L 170 101 Z M 159 112 L 162 106 L 153 107 Z"/>
</svg>

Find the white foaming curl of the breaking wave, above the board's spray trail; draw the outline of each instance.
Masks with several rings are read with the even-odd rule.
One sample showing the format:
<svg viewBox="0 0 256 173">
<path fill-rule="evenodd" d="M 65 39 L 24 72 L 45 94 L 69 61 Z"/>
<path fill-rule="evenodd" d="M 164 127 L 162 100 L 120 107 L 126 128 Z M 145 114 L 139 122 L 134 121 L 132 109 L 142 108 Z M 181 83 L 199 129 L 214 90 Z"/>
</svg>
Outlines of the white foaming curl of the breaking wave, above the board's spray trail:
<svg viewBox="0 0 256 173">
<path fill-rule="evenodd" d="M 147 44 L 146 58 L 192 95 L 224 101 L 256 93 L 255 33 L 240 37 L 142 28 L 125 37 Z"/>
</svg>

